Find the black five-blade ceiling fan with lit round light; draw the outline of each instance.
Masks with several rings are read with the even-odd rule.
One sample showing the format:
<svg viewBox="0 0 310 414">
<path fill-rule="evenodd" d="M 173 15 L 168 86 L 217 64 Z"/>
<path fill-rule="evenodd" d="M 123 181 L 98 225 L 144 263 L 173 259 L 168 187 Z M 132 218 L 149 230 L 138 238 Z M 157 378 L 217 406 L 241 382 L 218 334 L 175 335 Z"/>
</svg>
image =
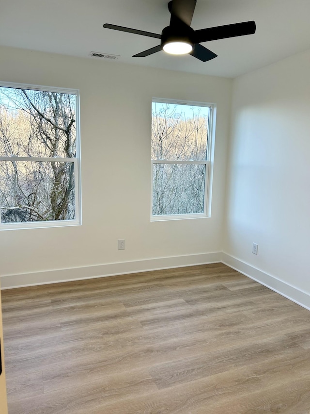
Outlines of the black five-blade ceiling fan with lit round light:
<svg viewBox="0 0 310 414">
<path fill-rule="evenodd" d="M 253 34 L 256 30 L 255 21 L 227 24 L 225 26 L 211 27 L 208 29 L 193 30 L 190 27 L 197 0 L 171 0 L 168 9 L 171 13 L 170 24 L 161 34 L 144 32 L 143 30 L 129 27 L 116 26 L 106 23 L 103 27 L 119 30 L 121 32 L 141 34 L 142 36 L 160 39 L 160 45 L 144 50 L 133 57 L 145 57 L 164 50 L 171 54 L 189 53 L 195 58 L 206 62 L 217 57 L 217 54 L 205 48 L 200 43 L 210 40 L 225 39 L 227 37 Z"/>
</svg>

